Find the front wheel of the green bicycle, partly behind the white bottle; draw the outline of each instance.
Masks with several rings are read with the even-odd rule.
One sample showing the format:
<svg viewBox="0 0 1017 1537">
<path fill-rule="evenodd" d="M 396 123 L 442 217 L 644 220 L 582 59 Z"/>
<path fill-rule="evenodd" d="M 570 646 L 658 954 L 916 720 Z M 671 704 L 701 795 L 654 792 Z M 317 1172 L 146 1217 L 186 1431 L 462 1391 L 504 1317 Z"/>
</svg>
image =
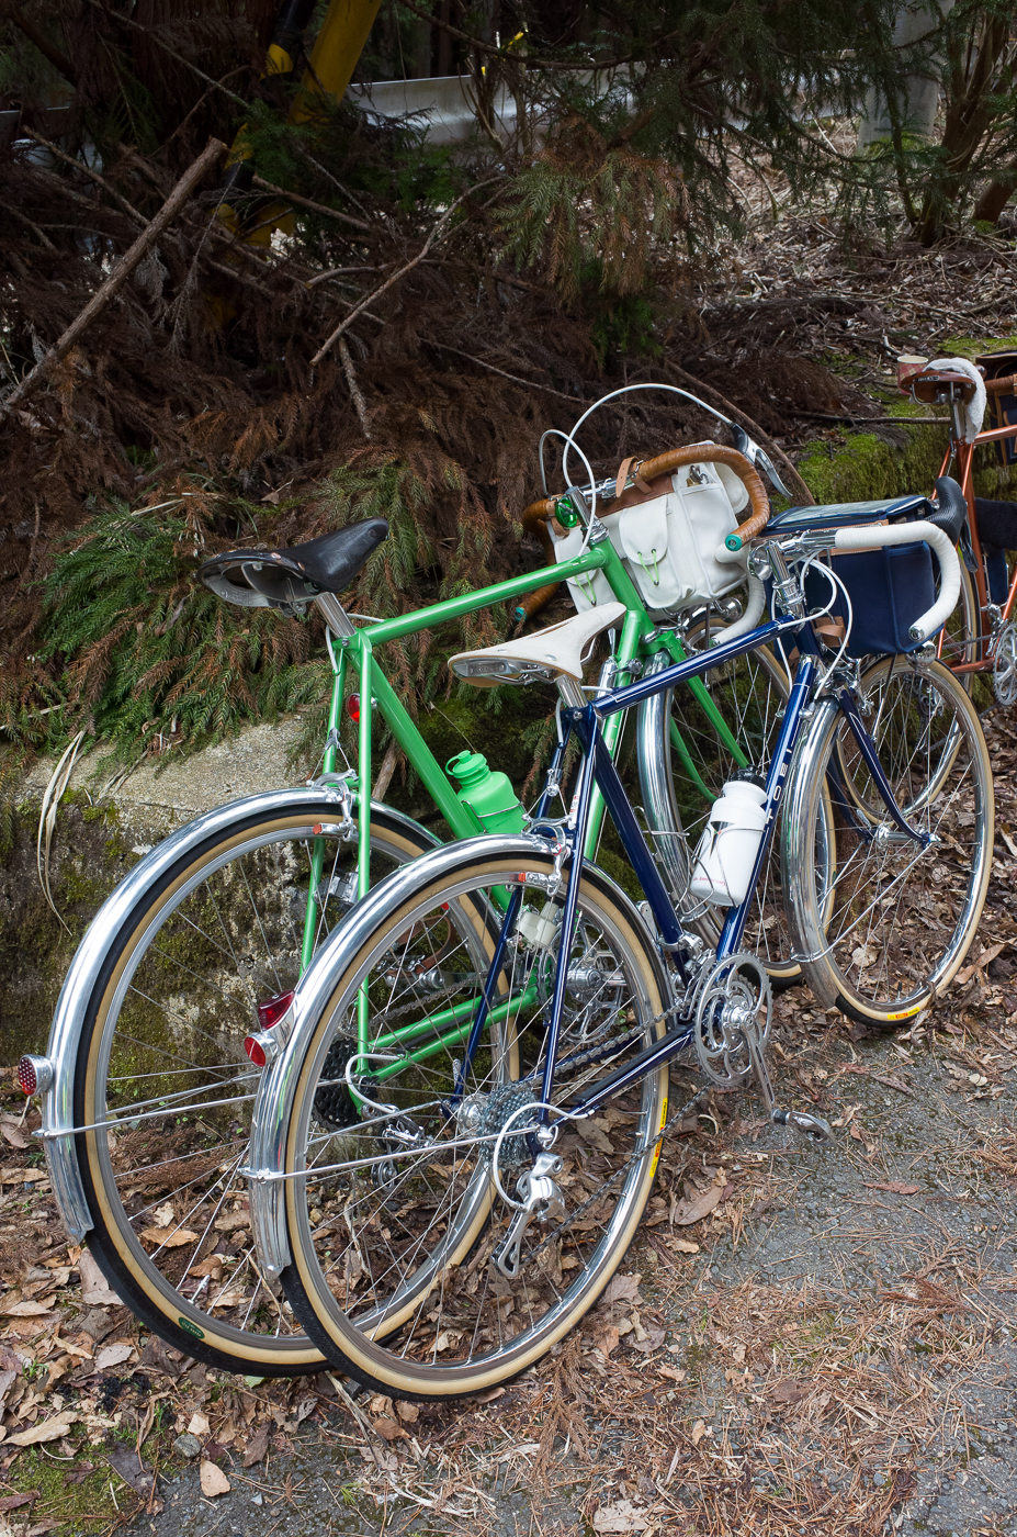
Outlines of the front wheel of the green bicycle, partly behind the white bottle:
<svg viewBox="0 0 1017 1537">
<path fill-rule="evenodd" d="M 713 626 L 710 636 L 724 627 Z M 707 639 L 705 627 L 685 638 L 688 652 Z M 668 666 L 667 659 L 659 666 Z M 656 695 L 641 705 L 639 776 L 650 825 L 650 847 L 682 918 L 708 944 L 716 944 L 724 922 L 719 908 L 696 908 L 688 898 L 688 861 L 725 782 L 744 767 L 765 776 L 788 699 L 785 669 L 768 647 L 724 662 L 704 676 L 710 701 L 740 747 L 744 762 L 719 735 L 707 709 L 688 684 Z M 833 858 L 833 812 L 828 799 L 817 807 L 813 859 L 820 870 Z M 783 911 L 779 844 L 774 838 L 745 927 L 744 948 L 765 964 L 776 987 L 800 979 Z"/>
</svg>

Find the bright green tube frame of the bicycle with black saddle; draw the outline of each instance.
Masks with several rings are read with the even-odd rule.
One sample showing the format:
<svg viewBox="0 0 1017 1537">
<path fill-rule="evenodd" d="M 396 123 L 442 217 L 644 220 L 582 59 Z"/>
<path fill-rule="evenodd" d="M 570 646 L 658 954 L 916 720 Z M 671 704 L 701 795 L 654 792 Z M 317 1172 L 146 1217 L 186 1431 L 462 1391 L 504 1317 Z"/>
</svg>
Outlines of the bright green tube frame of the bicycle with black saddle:
<svg viewBox="0 0 1017 1537">
<path fill-rule="evenodd" d="M 436 603 L 427 609 L 418 609 L 413 613 L 398 615 L 393 619 L 383 619 L 376 624 L 364 626 L 355 630 L 352 635 L 333 636 L 338 644 L 338 656 L 333 661 L 333 681 L 332 681 L 332 701 L 329 707 L 329 735 L 324 750 L 323 773 L 333 775 L 336 772 L 338 761 L 338 736 L 340 722 L 343 712 L 343 699 L 346 695 L 346 675 L 347 666 L 352 666 L 359 673 L 359 722 L 358 722 L 358 778 L 355 781 L 358 799 L 361 805 L 370 805 L 370 779 L 372 779 L 372 719 L 375 707 L 381 712 L 392 736 L 398 745 L 406 753 L 407 759 L 413 765 L 415 772 L 419 775 L 427 793 L 432 796 L 435 805 L 444 816 L 449 828 L 456 839 L 459 838 L 475 838 L 482 827 L 478 827 L 473 815 L 462 805 L 455 790 L 452 788 L 447 775 L 435 759 L 427 742 L 421 736 L 419 730 L 413 724 L 409 712 L 402 705 L 401 699 L 392 689 L 392 684 L 386 678 L 384 672 L 375 659 L 375 650 L 386 641 L 399 639 L 404 635 L 415 635 L 418 630 L 435 629 L 446 624 L 450 619 L 459 619 L 465 613 L 475 613 L 478 609 L 493 607 L 499 603 L 508 603 L 522 593 L 533 592 L 536 587 L 544 587 L 548 579 L 567 581 L 573 578 L 582 578 L 590 572 L 602 570 L 607 581 L 619 599 L 625 604 L 628 610 L 622 621 L 621 636 L 618 641 L 618 649 L 615 652 L 615 662 L 618 667 L 618 676 L 624 676 L 628 672 L 628 664 L 631 664 L 636 656 L 645 655 L 651 656 L 661 650 L 665 650 L 671 661 L 685 661 L 685 649 L 673 629 L 658 630 L 654 621 L 645 610 L 644 601 L 634 587 L 621 556 L 615 550 L 611 541 L 605 536 L 599 543 L 591 544 L 581 555 L 573 556 L 568 561 L 562 561 L 559 566 L 544 566 L 539 570 L 527 572 L 522 576 L 515 576 L 510 581 L 496 583 L 492 587 L 481 587 L 476 592 L 465 593 L 459 598 L 450 598 L 446 603 Z M 618 681 L 615 684 L 618 687 Z M 714 705 L 707 687 L 701 678 L 696 678 L 690 684 L 693 696 L 705 712 L 710 724 L 713 725 L 717 738 L 724 742 L 725 749 L 734 756 L 740 767 L 745 767 L 748 759 L 744 749 L 739 745 L 737 739 L 731 733 L 727 721 Z M 604 725 L 604 739 L 611 753 L 616 755 L 621 735 L 624 727 L 624 716 L 613 715 Z M 677 727 L 671 722 L 671 742 L 679 753 L 679 758 L 685 767 L 685 772 L 693 779 L 701 793 L 711 799 L 710 792 L 696 765 L 691 759 L 688 747 L 681 736 Z M 604 801 L 599 792 L 595 792 L 593 804 L 590 808 L 590 819 L 587 827 L 587 838 L 584 844 L 584 858 L 593 858 L 596 847 L 599 844 L 601 832 L 604 825 Z M 310 888 L 307 893 L 307 908 L 304 916 L 304 934 L 301 947 L 301 973 L 310 965 L 315 936 L 316 936 L 316 911 L 315 911 L 315 893 L 321 882 L 324 862 L 324 838 L 315 838 L 312 845 L 312 861 L 310 861 Z M 370 818 L 361 816 L 358 827 L 358 896 L 366 896 L 369 890 L 370 878 Z M 510 1010 L 525 1007 L 532 999 L 516 998 L 512 1004 L 498 1005 L 495 1013 L 507 1014 Z M 393 1031 L 383 1033 L 376 1041 L 369 1042 L 367 1039 L 367 998 L 361 993 L 359 1021 L 358 1021 L 358 1047 L 361 1051 L 384 1051 L 392 1047 L 399 1047 L 402 1053 L 404 1065 L 406 1057 L 415 1062 L 424 1061 L 426 1057 L 441 1051 L 450 1045 L 459 1044 L 465 1033 L 469 1031 L 470 1010 L 462 1011 L 459 1017 L 459 1010 L 449 1008 L 438 1016 L 432 1016 L 427 1025 L 427 1034 L 430 1039 L 427 1044 L 412 1047 L 406 1053 L 406 1045 L 413 1036 L 413 1031 Z M 436 1033 L 436 1034 L 435 1034 Z M 395 1071 L 390 1068 L 389 1071 Z M 372 1070 L 372 1077 L 383 1079 L 387 1073 L 384 1068 Z"/>
</svg>

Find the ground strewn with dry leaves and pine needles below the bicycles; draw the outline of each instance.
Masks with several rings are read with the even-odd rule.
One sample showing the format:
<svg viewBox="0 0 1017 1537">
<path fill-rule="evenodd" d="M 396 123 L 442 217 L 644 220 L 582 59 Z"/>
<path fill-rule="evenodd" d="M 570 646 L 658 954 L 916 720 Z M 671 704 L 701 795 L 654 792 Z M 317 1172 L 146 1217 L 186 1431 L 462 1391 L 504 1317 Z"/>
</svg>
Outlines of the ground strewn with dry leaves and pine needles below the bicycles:
<svg viewBox="0 0 1017 1537">
<path fill-rule="evenodd" d="M 63 1239 L 6 1084 L 0 1537 L 1017 1531 L 1017 722 L 985 724 L 995 858 L 956 985 L 893 1039 L 785 993 L 779 1093 L 833 1147 L 751 1094 L 676 1122 L 604 1300 L 484 1403 L 164 1349 Z"/>
</svg>

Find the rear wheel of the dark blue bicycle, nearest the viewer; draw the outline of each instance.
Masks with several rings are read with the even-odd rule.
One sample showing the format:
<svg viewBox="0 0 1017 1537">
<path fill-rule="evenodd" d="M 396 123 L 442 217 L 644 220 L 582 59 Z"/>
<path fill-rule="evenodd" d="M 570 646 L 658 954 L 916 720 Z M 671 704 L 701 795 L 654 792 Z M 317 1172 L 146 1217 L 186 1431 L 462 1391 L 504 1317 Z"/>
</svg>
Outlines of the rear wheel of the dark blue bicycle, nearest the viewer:
<svg viewBox="0 0 1017 1537">
<path fill-rule="evenodd" d="M 516 1199 L 539 1151 L 525 1133 L 536 1124 L 528 1107 L 539 1097 L 561 898 L 553 856 L 536 841 L 512 851 L 485 844 L 464 845 L 442 871 L 398 891 L 389 911 L 372 915 L 359 947 L 332 951 L 335 987 L 284 1134 L 286 1174 L 300 1176 L 286 1180 L 293 1259 L 283 1286 L 293 1313 L 338 1368 L 402 1399 L 490 1388 L 582 1317 L 639 1222 L 667 1114 L 667 1068 L 658 1068 L 591 1125 L 565 1120 L 553 1174 L 564 1210 L 530 1222 L 518 1250 L 507 1250 L 515 1208 L 505 1197 Z M 436 973 L 421 973 L 418 956 L 430 954 L 450 913 L 467 905 L 496 913 L 499 890 L 519 887 L 502 1002 L 467 1061 L 462 1037 L 492 936 L 478 945 L 476 928 L 461 924 L 461 941 L 446 945 Z M 662 1031 L 667 996 L 630 899 L 587 865 L 578 901 L 559 1105 Z M 361 987 L 376 1056 L 350 1059 Z M 361 1096 L 359 1114 L 350 1088 Z M 327 1097 L 336 1090 L 346 1111 Z"/>
</svg>

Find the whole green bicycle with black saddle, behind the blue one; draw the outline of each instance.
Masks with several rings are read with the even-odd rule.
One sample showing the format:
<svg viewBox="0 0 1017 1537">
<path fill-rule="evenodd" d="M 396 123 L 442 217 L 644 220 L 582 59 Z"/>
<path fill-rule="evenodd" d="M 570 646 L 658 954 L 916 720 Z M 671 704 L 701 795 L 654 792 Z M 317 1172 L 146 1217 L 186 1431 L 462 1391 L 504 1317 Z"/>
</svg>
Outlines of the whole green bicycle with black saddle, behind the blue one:
<svg viewBox="0 0 1017 1537">
<path fill-rule="evenodd" d="M 515 795 L 496 807 L 492 821 L 475 787 L 453 788 L 386 678 L 379 647 L 485 606 L 518 601 L 553 576 L 602 579 L 625 607 L 604 686 L 684 659 L 685 641 L 694 641 L 710 606 L 701 606 L 691 626 L 676 618 L 656 622 L 633 583 L 631 561 L 627 566 L 618 553 L 593 506 L 598 496 L 618 504 L 636 492 L 639 510 L 645 495 L 639 484 L 659 489 L 679 469 L 708 476 L 714 456 L 734 464 L 745 484 L 753 518 L 744 527 L 750 527 L 767 513 L 751 464 L 713 444 L 679 449 L 644 461 L 616 483 L 595 486 L 590 506 L 576 487 L 553 498 L 547 516 L 558 520 L 562 535 L 575 532 L 581 546 L 553 569 L 383 622 L 355 627 L 338 596 L 384 538 L 383 520 L 286 550 L 237 550 L 203 567 L 204 581 L 227 601 L 283 612 L 313 603 L 324 616 L 332 702 L 323 772 L 303 788 L 207 813 L 146 855 L 104 904 L 75 956 L 48 1056 L 23 1065 L 23 1087 L 45 1091 L 54 1191 L 75 1236 L 88 1236 L 124 1302 L 189 1356 L 258 1376 L 321 1366 L 287 1303 L 258 1273 L 240 1170 L 258 1082 L 260 1030 L 286 1011 L 316 948 L 353 902 L 436 842 L 410 818 L 370 799 L 373 712 L 384 718 L 455 839 L 524 825 Z M 661 573 L 659 563 L 654 570 Z M 734 618 L 730 606 L 727 618 Z M 754 624 L 751 613 L 736 622 L 745 621 Z M 364 702 L 355 768 L 343 765 L 340 745 L 350 670 L 359 675 Z M 756 652 L 719 670 L 710 687 L 696 679 L 687 704 L 679 707 L 671 698 L 664 713 L 645 710 L 636 719 L 647 819 L 661 868 L 684 918 L 705 934 L 716 936 L 717 919 L 713 908 L 687 896 L 688 856 L 674 782 L 691 767 L 705 815 L 733 770 L 767 761 L 785 696 L 777 662 Z M 613 755 L 621 736 L 622 718 L 616 716 L 605 730 Z M 369 818 L 361 815 L 367 804 Z M 590 856 L 602 821 L 598 804 L 585 844 Z M 760 950 L 771 944 L 773 961 L 788 971 L 788 951 L 776 953 L 774 936 L 782 931 L 776 884 L 771 896 L 756 908 L 756 938 Z M 450 919 L 450 942 L 452 927 Z M 438 945 L 421 968 L 424 993 L 441 993 L 441 961 Z M 401 1041 L 395 1019 L 392 1031 L 410 1057 L 429 1050 Z M 250 1061 L 244 1037 L 252 1037 Z"/>
</svg>

